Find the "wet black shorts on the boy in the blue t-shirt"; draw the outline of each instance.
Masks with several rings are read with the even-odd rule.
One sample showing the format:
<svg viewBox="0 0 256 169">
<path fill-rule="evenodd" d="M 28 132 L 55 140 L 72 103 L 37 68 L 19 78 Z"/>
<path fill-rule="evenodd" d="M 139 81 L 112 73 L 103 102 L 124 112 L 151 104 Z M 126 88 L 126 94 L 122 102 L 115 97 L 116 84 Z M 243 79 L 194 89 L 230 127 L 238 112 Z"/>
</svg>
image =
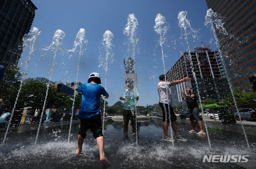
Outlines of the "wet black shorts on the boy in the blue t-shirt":
<svg viewBox="0 0 256 169">
<path fill-rule="evenodd" d="M 91 116 L 88 119 L 80 119 L 80 129 L 78 134 L 83 138 L 86 137 L 86 131 L 91 129 L 94 138 L 103 136 L 101 116 Z"/>
</svg>

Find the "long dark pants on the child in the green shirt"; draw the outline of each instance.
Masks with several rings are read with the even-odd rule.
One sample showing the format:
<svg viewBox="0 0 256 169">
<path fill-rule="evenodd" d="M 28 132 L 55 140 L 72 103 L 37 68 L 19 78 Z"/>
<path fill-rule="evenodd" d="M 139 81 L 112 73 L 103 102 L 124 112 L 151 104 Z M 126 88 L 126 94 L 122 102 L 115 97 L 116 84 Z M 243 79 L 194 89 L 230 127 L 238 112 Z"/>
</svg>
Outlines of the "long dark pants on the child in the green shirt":
<svg viewBox="0 0 256 169">
<path fill-rule="evenodd" d="M 136 137 L 136 116 L 135 110 L 124 110 L 123 111 L 123 119 L 124 119 L 124 137 L 128 137 L 128 124 L 129 120 L 132 124 L 133 136 Z"/>
</svg>

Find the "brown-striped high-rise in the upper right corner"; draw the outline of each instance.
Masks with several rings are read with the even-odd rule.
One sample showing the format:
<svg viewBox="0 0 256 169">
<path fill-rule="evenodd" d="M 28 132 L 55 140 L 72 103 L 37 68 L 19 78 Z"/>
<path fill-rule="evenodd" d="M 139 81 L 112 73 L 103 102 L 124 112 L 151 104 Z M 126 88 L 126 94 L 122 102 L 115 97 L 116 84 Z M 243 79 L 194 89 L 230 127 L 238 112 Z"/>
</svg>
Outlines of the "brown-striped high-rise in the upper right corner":
<svg viewBox="0 0 256 169">
<path fill-rule="evenodd" d="M 256 1 L 206 0 L 206 4 L 224 17 L 228 34 L 215 29 L 233 86 L 256 91 Z"/>
</svg>

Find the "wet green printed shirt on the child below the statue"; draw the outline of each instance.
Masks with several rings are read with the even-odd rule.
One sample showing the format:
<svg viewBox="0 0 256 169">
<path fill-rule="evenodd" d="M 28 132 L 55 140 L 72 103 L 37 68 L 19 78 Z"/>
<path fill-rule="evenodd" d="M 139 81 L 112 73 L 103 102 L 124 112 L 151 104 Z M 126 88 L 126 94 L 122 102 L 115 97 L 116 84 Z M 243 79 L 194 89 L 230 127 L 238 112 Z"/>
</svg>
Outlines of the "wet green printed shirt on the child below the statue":
<svg viewBox="0 0 256 169">
<path fill-rule="evenodd" d="M 124 110 L 136 110 L 135 108 L 135 98 L 139 96 L 136 88 L 126 89 L 124 92 Z"/>
</svg>

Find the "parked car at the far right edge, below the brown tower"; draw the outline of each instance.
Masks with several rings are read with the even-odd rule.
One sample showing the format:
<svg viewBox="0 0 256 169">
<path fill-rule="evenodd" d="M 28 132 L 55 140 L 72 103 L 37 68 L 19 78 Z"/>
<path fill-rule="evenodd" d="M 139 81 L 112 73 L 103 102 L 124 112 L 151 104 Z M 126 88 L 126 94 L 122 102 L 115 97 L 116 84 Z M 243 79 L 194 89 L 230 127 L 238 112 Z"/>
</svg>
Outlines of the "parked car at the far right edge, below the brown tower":
<svg viewBox="0 0 256 169">
<path fill-rule="evenodd" d="M 256 120 L 256 109 L 251 109 L 251 108 L 242 108 L 242 109 L 238 109 L 239 114 L 241 116 L 241 120 Z M 240 120 L 239 119 L 239 115 L 238 112 L 235 112 L 235 118 L 236 120 Z"/>
</svg>

